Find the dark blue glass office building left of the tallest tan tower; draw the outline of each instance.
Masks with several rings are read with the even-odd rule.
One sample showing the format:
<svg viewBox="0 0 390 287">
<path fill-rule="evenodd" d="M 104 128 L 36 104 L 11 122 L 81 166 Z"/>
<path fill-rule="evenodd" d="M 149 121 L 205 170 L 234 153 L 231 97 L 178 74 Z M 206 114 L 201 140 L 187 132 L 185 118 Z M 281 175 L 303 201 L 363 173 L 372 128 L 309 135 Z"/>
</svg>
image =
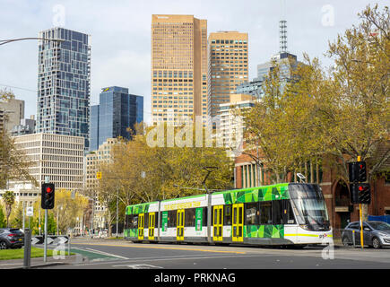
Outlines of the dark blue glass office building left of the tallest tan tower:
<svg viewBox="0 0 390 287">
<path fill-rule="evenodd" d="M 100 93 L 100 104 L 91 106 L 90 151 L 108 138 L 130 139 L 128 128 L 143 121 L 143 96 L 128 93 L 127 88 L 107 87 Z"/>
</svg>

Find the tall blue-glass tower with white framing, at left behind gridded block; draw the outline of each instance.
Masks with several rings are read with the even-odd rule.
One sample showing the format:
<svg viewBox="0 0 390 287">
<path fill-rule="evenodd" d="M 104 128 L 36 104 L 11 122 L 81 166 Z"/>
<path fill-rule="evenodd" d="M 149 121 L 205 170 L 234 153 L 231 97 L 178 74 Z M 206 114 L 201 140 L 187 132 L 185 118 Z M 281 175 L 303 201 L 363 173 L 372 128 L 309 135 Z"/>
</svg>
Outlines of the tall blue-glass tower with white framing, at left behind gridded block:
<svg viewBox="0 0 390 287">
<path fill-rule="evenodd" d="M 89 147 L 90 36 L 52 28 L 39 32 L 37 133 L 74 135 Z"/>
</svg>

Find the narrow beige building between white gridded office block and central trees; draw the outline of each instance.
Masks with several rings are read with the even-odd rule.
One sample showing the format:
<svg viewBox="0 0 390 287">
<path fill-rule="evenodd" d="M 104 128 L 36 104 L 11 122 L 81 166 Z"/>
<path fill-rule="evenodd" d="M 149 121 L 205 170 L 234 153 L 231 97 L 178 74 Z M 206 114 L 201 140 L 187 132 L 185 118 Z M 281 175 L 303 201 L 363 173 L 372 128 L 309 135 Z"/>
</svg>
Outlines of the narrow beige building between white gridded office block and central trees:
<svg viewBox="0 0 390 287">
<path fill-rule="evenodd" d="M 99 180 L 96 178 L 96 173 L 99 171 L 99 166 L 103 162 L 111 160 L 111 149 L 117 143 L 116 138 L 108 138 L 106 142 L 100 144 L 99 149 L 90 152 L 85 156 L 86 161 L 86 178 L 85 178 L 85 193 L 92 197 L 93 204 L 93 229 L 107 228 L 106 221 L 107 208 L 99 202 Z"/>
</svg>

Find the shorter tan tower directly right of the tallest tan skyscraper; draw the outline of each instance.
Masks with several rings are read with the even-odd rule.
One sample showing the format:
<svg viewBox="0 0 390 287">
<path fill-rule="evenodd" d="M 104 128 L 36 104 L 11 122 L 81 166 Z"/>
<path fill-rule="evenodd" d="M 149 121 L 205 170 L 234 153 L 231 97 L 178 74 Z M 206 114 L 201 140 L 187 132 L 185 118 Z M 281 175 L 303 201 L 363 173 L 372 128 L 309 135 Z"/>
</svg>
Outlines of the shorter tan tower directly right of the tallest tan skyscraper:
<svg viewBox="0 0 390 287">
<path fill-rule="evenodd" d="M 220 105 L 230 101 L 239 84 L 248 81 L 247 33 L 220 31 L 209 36 L 208 114 L 219 114 Z"/>
</svg>

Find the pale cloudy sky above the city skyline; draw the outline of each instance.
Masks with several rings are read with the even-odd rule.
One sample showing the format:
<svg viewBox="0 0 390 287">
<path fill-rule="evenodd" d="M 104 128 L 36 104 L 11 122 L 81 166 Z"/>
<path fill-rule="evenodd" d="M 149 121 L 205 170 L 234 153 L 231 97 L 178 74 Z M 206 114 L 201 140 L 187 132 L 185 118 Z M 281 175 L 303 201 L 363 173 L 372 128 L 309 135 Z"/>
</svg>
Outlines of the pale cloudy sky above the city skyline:
<svg viewBox="0 0 390 287">
<path fill-rule="evenodd" d="M 329 41 L 357 25 L 368 0 L 0 0 L 0 40 L 38 37 L 40 30 L 61 26 L 91 35 L 91 105 L 101 88 L 121 86 L 144 97 L 144 121 L 151 119 L 152 14 L 190 14 L 207 20 L 208 33 L 248 33 L 249 79 L 256 65 L 279 52 L 279 21 L 287 21 L 288 51 L 302 60 L 319 57 L 324 65 Z M 388 4 L 388 3 L 387 3 Z M 0 89 L 25 100 L 25 117 L 36 115 L 38 41 L 0 46 Z"/>
</svg>

